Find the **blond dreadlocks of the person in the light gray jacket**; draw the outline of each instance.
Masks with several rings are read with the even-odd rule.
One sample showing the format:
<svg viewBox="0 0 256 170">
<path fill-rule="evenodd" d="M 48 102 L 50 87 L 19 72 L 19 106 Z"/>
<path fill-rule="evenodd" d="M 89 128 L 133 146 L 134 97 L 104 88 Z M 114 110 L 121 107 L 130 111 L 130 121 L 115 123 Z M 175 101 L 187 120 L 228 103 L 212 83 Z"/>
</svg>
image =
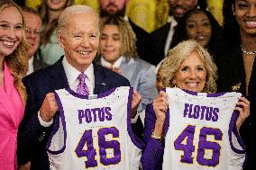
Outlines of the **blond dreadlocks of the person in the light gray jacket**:
<svg viewBox="0 0 256 170">
<path fill-rule="evenodd" d="M 136 35 L 129 22 L 126 22 L 121 16 L 106 16 L 101 19 L 100 31 L 105 25 L 115 25 L 118 27 L 121 36 L 121 55 L 129 58 L 138 58 L 136 49 Z"/>
</svg>

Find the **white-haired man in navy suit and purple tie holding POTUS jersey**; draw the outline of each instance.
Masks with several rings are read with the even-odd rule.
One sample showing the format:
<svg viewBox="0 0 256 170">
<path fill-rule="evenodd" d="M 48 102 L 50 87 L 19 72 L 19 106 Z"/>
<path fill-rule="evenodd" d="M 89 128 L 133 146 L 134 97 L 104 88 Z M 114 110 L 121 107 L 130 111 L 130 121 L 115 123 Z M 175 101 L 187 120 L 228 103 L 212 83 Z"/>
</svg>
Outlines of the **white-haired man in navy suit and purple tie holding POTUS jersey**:
<svg viewBox="0 0 256 170">
<path fill-rule="evenodd" d="M 58 22 L 58 40 L 65 56 L 52 66 L 24 77 L 28 99 L 18 134 L 19 166 L 30 161 L 31 169 L 49 169 L 46 143 L 53 128 L 53 117 L 59 111 L 55 90 L 70 87 L 77 91 L 81 73 L 87 75 L 88 94 L 101 94 L 117 86 L 130 85 L 123 76 L 93 63 L 99 45 L 98 21 L 97 14 L 85 5 L 66 8 Z M 140 94 L 134 92 L 133 112 L 140 101 Z"/>
</svg>

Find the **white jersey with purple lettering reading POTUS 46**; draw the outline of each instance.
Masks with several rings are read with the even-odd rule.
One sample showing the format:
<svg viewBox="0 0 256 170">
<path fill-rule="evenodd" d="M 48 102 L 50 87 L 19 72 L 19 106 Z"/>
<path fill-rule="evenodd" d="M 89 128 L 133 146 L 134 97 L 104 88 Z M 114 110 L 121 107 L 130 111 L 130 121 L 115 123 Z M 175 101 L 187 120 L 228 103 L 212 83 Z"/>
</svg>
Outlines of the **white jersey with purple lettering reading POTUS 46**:
<svg viewBox="0 0 256 170">
<path fill-rule="evenodd" d="M 47 144 L 51 170 L 139 169 L 142 142 L 131 128 L 133 88 L 104 94 L 55 91 L 59 106 Z"/>
</svg>

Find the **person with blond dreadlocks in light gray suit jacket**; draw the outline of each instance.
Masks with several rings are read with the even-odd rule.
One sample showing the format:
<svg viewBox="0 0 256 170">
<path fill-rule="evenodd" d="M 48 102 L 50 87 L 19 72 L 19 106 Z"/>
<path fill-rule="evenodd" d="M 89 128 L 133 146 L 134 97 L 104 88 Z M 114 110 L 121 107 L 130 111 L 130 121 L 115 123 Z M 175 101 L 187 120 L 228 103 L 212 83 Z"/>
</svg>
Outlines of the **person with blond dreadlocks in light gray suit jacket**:
<svg viewBox="0 0 256 170">
<path fill-rule="evenodd" d="M 138 57 L 135 42 L 136 36 L 133 29 L 123 17 L 108 16 L 102 19 L 101 57 L 98 62 L 129 80 L 133 88 L 142 95 L 142 102 L 137 110 L 142 112 L 158 92 L 155 87 L 155 67 Z M 139 126 L 136 127 L 136 132 L 138 132 L 136 135 L 142 137 L 142 124 L 137 122 L 136 125 Z"/>
</svg>

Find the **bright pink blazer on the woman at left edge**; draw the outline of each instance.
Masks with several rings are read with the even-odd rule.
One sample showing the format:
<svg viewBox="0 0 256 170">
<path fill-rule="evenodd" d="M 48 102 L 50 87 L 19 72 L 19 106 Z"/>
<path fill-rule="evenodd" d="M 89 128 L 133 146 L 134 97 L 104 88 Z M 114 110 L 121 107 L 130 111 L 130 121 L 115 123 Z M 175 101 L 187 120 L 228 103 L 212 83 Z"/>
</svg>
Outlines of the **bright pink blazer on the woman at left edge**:
<svg viewBox="0 0 256 170">
<path fill-rule="evenodd" d="M 24 105 L 10 69 L 4 65 L 4 86 L 0 86 L 0 169 L 14 170 L 17 132 L 23 119 Z"/>
</svg>

